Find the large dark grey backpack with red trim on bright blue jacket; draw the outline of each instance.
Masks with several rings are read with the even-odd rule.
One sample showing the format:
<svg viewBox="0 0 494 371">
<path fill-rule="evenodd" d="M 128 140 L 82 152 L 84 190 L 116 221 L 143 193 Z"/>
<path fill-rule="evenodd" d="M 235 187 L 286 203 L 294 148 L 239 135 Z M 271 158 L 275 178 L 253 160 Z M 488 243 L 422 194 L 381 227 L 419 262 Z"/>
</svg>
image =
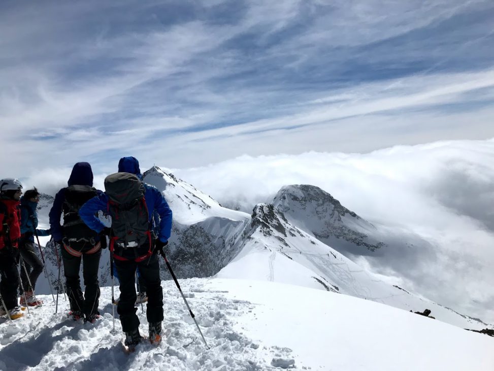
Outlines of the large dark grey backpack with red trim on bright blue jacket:
<svg viewBox="0 0 494 371">
<path fill-rule="evenodd" d="M 144 198 L 146 189 L 141 180 L 130 173 L 108 175 L 105 194 L 109 198 L 108 211 L 112 217 L 112 241 L 123 249 L 140 250 L 146 244 L 150 249 L 150 223 Z"/>
</svg>

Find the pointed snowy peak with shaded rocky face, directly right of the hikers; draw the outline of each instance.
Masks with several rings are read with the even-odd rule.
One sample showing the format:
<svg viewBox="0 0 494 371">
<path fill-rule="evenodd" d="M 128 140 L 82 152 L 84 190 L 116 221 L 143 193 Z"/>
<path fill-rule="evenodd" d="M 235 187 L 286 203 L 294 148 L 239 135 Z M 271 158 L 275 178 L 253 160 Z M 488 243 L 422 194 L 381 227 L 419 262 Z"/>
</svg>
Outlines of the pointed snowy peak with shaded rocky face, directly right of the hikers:
<svg viewBox="0 0 494 371">
<path fill-rule="evenodd" d="M 207 277 L 229 263 L 233 245 L 250 221 L 250 215 L 222 207 L 208 195 L 173 174 L 153 167 L 144 181 L 163 192 L 173 210 L 173 230 L 168 256 L 182 278 Z M 162 278 L 169 278 L 162 269 Z"/>
</svg>

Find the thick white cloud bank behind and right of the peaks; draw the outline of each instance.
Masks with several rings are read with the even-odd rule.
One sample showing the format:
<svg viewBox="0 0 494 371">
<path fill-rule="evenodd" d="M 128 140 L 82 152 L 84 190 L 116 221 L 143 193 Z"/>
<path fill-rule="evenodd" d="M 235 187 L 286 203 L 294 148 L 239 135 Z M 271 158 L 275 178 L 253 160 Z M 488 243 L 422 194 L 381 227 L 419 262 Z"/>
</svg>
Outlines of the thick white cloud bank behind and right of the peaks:
<svg viewBox="0 0 494 371">
<path fill-rule="evenodd" d="M 286 184 L 313 184 L 413 244 L 360 258 L 400 286 L 494 322 L 494 140 L 395 146 L 367 154 L 243 156 L 175 170 L 225 206 L 251 212 Z M 361 260 L 364 259 L 364 260 Z"/>
</svg>

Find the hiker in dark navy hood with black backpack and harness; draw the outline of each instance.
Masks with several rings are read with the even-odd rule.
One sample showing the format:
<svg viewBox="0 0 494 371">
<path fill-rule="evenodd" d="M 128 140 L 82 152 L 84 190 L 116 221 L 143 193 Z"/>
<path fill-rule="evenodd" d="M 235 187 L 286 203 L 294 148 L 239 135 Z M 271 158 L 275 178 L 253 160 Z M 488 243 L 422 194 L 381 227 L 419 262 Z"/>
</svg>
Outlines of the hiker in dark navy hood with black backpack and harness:
<svg viewBox="0 0 494 371">
<path fill-rule="evenodd" d="M 98 305 L 100 284 L 98 267 L 101 258 L 100 235 L 88 228 L 79 217 L 79 208 L 102 191 L 92 187 L 91 165 L 78 162 L 72 169 L 68 187 L 62 188 L 55 196 L 50 210 L 50 229 L 53 239 L 61 246 L 61 257 L 72 316 L 74 320 L 84 318 L 93 323 L 99 316 Z M 63 213 L 63 225 L 60 217 Z M 57 249 L 58 247 L 55 246 Z M 82 271 L 86 290 L 81 290 L 79 269 Z"/>
</svg>

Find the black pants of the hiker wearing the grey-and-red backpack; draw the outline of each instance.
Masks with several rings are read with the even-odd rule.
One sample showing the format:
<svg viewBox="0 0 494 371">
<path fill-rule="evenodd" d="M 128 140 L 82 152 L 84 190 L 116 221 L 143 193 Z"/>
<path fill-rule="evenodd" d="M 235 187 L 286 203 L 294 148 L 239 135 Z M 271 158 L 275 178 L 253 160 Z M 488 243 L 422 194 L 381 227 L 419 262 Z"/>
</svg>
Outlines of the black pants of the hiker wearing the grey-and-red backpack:
<svg viewBox="0 0 494 371">
<path fill-rule="evenodd" d="M 116 260 L 115 267 L 120 280 L 120 300 L 117 305 L 117 312 L 120 316 L 122 329 L 130 332 L 139 327 L 139 318 L 136 315 L 136 268 L 139 267 L 141 278 L 146 284 L 148 295 L 146 317 L 149 323 L 163 320 L 163 291 L 159 278 L 158 257 L 151 255 L 151 258 L 143 262 L 134 260 Z"/>
</svg>

